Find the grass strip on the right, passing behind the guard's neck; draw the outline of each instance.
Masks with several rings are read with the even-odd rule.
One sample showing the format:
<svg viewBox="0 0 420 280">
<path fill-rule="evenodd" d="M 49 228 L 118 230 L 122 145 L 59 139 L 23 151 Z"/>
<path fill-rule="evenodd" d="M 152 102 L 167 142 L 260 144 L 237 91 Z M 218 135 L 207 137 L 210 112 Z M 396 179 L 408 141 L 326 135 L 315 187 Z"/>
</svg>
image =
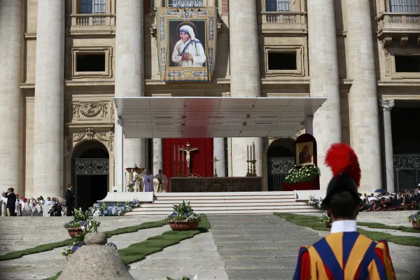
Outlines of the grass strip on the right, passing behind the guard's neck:
<svg viewBox="0 0 420 280">
<path fill-rule="evenodd" d="M 274 213 L 274 215 L 279 216 L 280 218 L 283 218 L 290 223 L 301 225 L 302 227 L 312 228 L 314 230 L 321 230 L 321 231 L 328 231 L 328 232 L 330 231 L 330 228 L 325 228 L 321 223 L 318 223 L 318 218 L 316 216 L 297 215 L 297 214 L 288 214 L 288 213 Z M 367 224 L 370 224 L 370 223 L 363 223 L 363 225 L 367 225 Z M 362 224 L 358 223 L 358 225 L 362 225 Z M 374 223 L 374 225 L 378 226 L 381 224 Z M 358 232 L 374 240 L 386 240 L 388 242 L 392 242 L 398 245 L 420 247 L 419 237 L 396 236 L 396 235 L 390 235 L 389 233 L 385 233 L 385 232 L 371 232 L 367 230 L 362 230 L 360 228 L 358 229 Z"/>
</svg>

